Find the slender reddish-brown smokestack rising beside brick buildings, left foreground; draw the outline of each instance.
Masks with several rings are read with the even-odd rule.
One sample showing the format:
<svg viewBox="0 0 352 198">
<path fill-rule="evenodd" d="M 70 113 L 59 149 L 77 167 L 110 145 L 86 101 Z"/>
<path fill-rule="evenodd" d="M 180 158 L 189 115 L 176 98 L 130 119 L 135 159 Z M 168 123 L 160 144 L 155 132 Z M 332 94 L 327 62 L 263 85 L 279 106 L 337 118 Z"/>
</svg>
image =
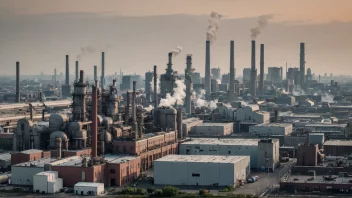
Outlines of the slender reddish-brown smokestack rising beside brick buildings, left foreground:
<svg viewBox="0 0 352 198">
<path fill-rule="evenodd" d="M 92 87 L 92 157 L 97 157 L 98 147 L 98 93 L 97 87 Z"/>
</svg>

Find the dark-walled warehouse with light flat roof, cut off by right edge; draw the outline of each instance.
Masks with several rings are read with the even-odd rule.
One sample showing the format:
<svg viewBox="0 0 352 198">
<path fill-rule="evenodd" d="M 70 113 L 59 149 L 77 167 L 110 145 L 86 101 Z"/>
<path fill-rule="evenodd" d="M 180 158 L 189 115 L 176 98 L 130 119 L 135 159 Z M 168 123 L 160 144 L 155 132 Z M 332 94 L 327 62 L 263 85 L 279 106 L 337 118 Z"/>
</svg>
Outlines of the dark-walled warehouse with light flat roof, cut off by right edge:
<svg viewBox="0 0 352 198">
<path fill-rule="evenodd" d="M 349 156 L 352 153 L 352 141 L 328 140 L 324 143 L 324 154 L 326 156 Z"/>
</svg>

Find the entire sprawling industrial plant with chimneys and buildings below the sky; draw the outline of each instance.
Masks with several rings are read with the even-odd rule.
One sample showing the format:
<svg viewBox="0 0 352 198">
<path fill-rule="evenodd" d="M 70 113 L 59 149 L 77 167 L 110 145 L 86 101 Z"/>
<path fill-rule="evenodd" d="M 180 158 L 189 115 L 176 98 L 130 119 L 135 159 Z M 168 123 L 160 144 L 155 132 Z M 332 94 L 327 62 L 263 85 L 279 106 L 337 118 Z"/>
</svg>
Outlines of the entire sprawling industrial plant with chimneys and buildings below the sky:
<svg viewBox="0 0 352 198">
<path fill-rule="evenodd" d="M 219 195 L 224 187 L 257 197 L 350 195 L 352 80 L 313 73 L 304 42 L 294 49 L 298 67 L 265 64 L 269 45 L 256 37 L 268 18 L 251 30 L 243 75 L 236 75 L 234 40 L 220 70 L 211 57 L 221 18 L 211 13 L 205 54 L 197 54 L 204 75 L 182 47 L 143 75 L 105 72 L 112 67 L 105 51 L 91 71 L 62 54 L 65 74 L 55 69 L 51 80 L 22 79 L 14 62 L 14 83 L 0 87 L 3 191 L 98 196 L 192 186 Z"/>
</svg>

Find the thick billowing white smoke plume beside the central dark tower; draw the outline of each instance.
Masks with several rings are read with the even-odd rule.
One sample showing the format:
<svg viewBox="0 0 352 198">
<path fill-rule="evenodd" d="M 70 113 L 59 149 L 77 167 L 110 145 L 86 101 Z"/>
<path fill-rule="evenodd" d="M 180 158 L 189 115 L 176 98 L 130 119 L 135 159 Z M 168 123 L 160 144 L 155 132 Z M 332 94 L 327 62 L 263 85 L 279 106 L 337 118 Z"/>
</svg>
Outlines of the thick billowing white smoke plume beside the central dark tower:
<svg viewBox="0 0 352 198">
<path fill-rule="evenodd" d="M 175 104 L 183 105 L 183 100 L 186 97 L 186 85 L 182 80 L 176 80 L 175 83 L 174 93 L 172 95 L 167 93 L 166 98 L 160 100 L 159 107 L 170 107 Z"/>
</svg>

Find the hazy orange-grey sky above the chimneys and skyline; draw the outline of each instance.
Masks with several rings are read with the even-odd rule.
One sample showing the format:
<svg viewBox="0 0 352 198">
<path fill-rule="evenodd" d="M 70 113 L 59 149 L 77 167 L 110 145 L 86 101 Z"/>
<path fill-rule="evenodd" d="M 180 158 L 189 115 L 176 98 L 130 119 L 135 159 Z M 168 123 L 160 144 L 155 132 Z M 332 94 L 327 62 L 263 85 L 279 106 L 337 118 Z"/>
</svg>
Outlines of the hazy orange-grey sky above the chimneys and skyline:
<svg viewBox="0 0 352 198">
<path fill-rule="evenodd" d="M 250 65 L 249 29 L 260 15 L 273 19 L 259 35 L 266 44 L 266 67 L 299 63 L 299 43 L 306 43 L 307 67 L 313 73 L 352 74 L 351 0 L 0 0 L 0 68 L 15 73 L 64 71 L 65 54 L 71 71 L 81 47 L 106 50 L 106 72 L 144 74 L 166 67 L 167 53 L 183 73 L 186 54 L 193 54 L 196 71 L 204 71 L 208 15 L 224 15 L 212 46 L 212 65 L 228 72 L 229 41 L 235 40 L 237 75 Z M 106 46 L 111 46 L 107 49 Z M 259 55 L 259 48 L 257 49 Z M 259 57 L 257 57 L 259 66 Z M 92 73 L 99 53 L 87 54 L 81 68 Z"/>
</svg>

